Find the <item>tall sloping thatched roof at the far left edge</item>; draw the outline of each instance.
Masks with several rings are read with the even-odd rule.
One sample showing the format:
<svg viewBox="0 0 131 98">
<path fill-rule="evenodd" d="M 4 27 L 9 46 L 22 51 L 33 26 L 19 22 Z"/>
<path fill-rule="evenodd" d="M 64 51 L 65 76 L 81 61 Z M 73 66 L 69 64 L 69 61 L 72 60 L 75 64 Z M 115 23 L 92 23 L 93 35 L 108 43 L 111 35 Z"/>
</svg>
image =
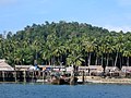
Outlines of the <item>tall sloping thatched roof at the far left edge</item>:
<svg viewBox="0 0 131 98">
<path fill-rule="evenodd" d="M 5 60 L 0 60 L 0 71 L 13 71 L 14 69 L 5 63 Z"/>
</svg>

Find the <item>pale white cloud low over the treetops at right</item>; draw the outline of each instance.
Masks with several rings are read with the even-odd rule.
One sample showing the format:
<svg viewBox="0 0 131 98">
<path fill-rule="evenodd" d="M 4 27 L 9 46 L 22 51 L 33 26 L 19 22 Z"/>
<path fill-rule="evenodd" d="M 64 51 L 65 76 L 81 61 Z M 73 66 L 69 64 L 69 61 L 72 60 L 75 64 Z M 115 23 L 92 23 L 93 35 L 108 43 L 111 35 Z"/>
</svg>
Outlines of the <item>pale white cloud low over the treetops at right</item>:
<svg viewBox="0 0 131 98">
<path fill-rule="evenodd" d="M 112 26 L 112 25 L 105 25 L 104 28 L 107 28 L 108 30 L 115 30 L 115 32 L 131 32 L 131 26 Z"/>
</svg>

